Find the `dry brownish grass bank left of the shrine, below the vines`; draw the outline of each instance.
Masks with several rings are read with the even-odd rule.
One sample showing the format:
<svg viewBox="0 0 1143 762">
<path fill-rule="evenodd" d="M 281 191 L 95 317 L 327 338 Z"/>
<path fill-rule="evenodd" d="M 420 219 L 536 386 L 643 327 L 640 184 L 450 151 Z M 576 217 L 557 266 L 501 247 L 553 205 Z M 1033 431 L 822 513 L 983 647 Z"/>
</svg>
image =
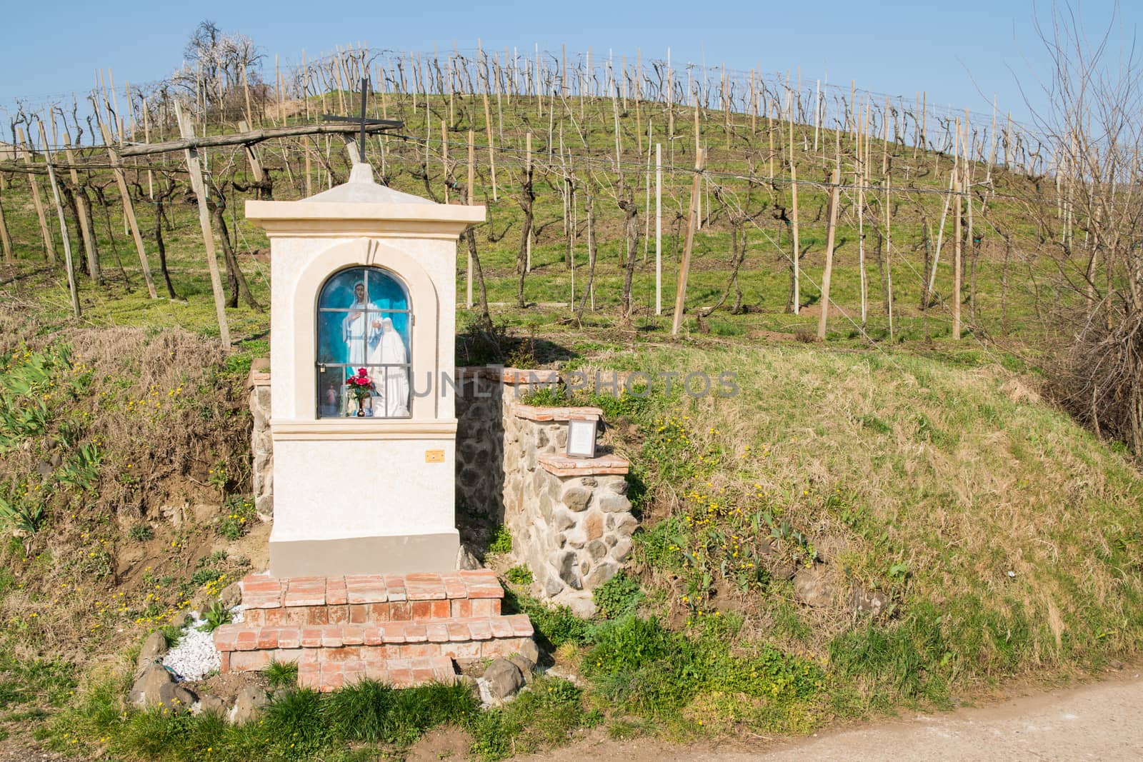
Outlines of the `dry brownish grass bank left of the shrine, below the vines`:
<svg viewBox="0 0 1143 762">
<path fill-rule="evenodd" d="M 211 522 L 248 480 L 242 374 L 185 331 L 54 332 L 0 312 L 0 383 L 5 367 L 41 356 L 54 362 L 41 390 L 49 422 L 0 458 L 0 489 L 43 513 L 35 527 L 6 527 L 0 617 L 17 656 L 80 660 L 121 650 L 125 631 L 168 624 L 199 596 L 189 578 L 201 560 L 233 550 Z M 83 448 L 97 452 L 89 481 L 69 484 Z M 209 567 L 237 575 L 249 563 L 230 555 Z"/>
</svg>

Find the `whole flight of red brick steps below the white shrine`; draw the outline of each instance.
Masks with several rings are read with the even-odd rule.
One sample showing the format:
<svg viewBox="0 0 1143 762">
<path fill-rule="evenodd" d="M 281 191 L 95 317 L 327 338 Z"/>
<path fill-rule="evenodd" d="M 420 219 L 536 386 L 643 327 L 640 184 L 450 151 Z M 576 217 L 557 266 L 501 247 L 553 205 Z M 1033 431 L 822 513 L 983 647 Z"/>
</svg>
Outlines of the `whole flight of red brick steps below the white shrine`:
<svg viewBox="0 0 1143 762">
<path fill-rule="evenodd" d="M 502 616 L 504 589 L 487 569 L 241 581 L 243 621 L 215 629 L 222 672 L 297 661 L 298 683 L 335 690 L 368 677 L 395 687 L 451 682 L 453 660 L 510 656 L 533 635 Z"/>
</svg>

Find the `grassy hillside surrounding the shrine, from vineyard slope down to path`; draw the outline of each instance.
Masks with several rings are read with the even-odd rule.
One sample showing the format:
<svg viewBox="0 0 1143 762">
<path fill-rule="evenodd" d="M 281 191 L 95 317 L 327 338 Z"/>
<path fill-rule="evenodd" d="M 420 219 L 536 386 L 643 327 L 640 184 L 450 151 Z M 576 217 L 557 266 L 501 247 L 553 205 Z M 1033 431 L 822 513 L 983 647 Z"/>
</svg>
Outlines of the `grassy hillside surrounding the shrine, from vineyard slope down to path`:
<svg viewBox="0 0 1143 762">
<path fill-rule="evenodd" d="M 429 102 L 433 118 L 448 119 L 443 99 Z M 478 136 L 483 128 L 479 99 L 458 102 L 449 120 L 453 157 L 463 153 L 470 126 Z M 423 97 L 419 121 L 407 96 L 390 110 L 410 126 L 424 123 Z M 847 190 L 832 291 L 845 314 L 831 316 L 825 344 L 802 343 L 796 339 L 813 330 L 820 308 L 825 190 L 799 189 L 808 251 L 801 302 L 808 308 L 792 315 L 785 312 L 789 228 L 775 217 L 789 206 L 789 186 L 750 179 L 751 166 L 757 175 L 767 163 L 768 136 L 748 135 L 743 114 L 734 115 L 737 128 L 727 131 L 718 112 L 704 111 L 713 201 L 704 199 L 709 216 L 696 235 L 692 312 L 685 335 L 672 338 L 666 321 L 693 141 L 674 142 L 678 170 L 664 193 L 664 209 L 671 210 L 664 212 L 663 236 L 668 314 L 650 308 L 654 249 L 645 264 L 640 239 L 638 310 L 625 321 L 618 311 L 620 176 L 608 165 L 615 145 L 610 102 L 589 102 L 585 113 L 572 161 L 577 182 L 590 182 L 596 195 L 599 262 L 596 308 L 581 324 L 569 320 L 568 306 L 538 304 L 572 296 L 557 191 L 559 143 L 551 146 L 555 158 L 546 159 L 550 122 L 538 118 L 534 101 L 515 97 L 504 112 L 511 139 L 497 163 L 499 201 L 477 232 L 493 303 L 515 298 L 522 212 L 514 196 L 529 126 L 541 163 L 539 230 L 525 281 L 533 306 L 493 307 L 494 319 L 507 326 L 498 330 L 512 334 L 504 348 L 513 346 L 517 362 L 559 361 L 589 374 L 733 371 L 737 394 L 693 400 L 656 384 L 646 396 L 612 399 L 597 391 L 580 398 L 605 408 L 608 443 L 634 464 L 632 495 L 642 523 L 636 561 L 599 593 L 601 615 L 590 623 L 542 607 L 526 585 L 512 588 L 515 605 L 531 615 L 580 687 L 549 679 L 539 683 L 549 690 L 485 713 L 438 696 L 433 706 L 451 708 L 409 709 L 369 744 L 384 741 L 384 749 L 400 753 L 441 722 L 465 728 L 487 757 L 561 744 L 591 727 L 616 737 L 681 739 L 744 729 L 806 732 L 901 705 L 949 706 L 1015 675 L 1068 680 L 1137 652 L 1143 479 L 1121 447 L 1096 440 L 1041 400 L 1044 377 L 1029 363 L 1053 331 L 1045 303 L 1069 298 L 1060 273 L 1038 256 L 1056 231 L 1028 212 L 1029 200 L 1048 189 L 1025 175 L 974 167 L 977 179 L 991 176 L 996 195 L 988 195 L 983 212 L 988 189 L 974 190 L 983 234 L 980 256 L 967 258 L 966 281 L 974 276 L 975 312 L 966 303 L 972 331 L 954 344 L 946 340 L 946 302 L 935 298 L 925 310 L 920 303 L 925 241 L 935 238 L 929 230 L 940 222 L 952 162 L 924 151 L 914 160 L 911 147 L 890 144 L 893 185 L 902 189 L 889 202 L 894 340 L 876 228 L 869 230 L 885 209 L 871 192 L 870 318 L 863 332 Z M 688 125 L 684 117 L 689 114 L 679 123 Z M 644 182 L 637 168 L 646 166 L 645 157 L 632 150 L 632 114 L 620 121 L 624 182 Z M 566 145 L 580 139 L 570 112 L 563 127 Z M 794 129 L 799 178 L 821 181 L 832 150 L 806 151 L 802 137 L 810 128 Z M 775 135 L 782 150 L 785 133 L 776 126 Z M 832 146 L 834 134 L 826 136 L 822 144 Z M 841 143 L 848 145 L 845 135 Z M 390 138 L 386 182 L 421 194 L 429 182 L 442 193 L 439 165 L 427 165 L 427 181 L 416 174 L 423 147 Z M 297 145 L 259 151 L 275 168 L 275 198 L 298 198 Z M 876 139 L 871 153 L 881 153 Z M 335 146 L 329 155 L 344 177 L 342 152 Z M 218 151 L 210 163 L 219 177 L 233 168 L 241 183 L 248 179 L 243 161 L 239 152 Z M 174 162 L 170 171 L 178 176 Z M 110 179 L 101 170 L 91 174 L 93 183 Z M 483 165 L 478 178 L 478 199 L 490 196 Z M 197 210 L 176 196 L 165 239 L 174 286 L 185 300 L 146 297 L 112 203 L 105 218 L 102 210 L 96 217 L 107 283 L 80 279 L 85 313 L 73 321 L 62 273 L 46 270 L 38 251 L 27 185 L 13 175 L 6 179 L 0 200 L 17 263 L 0 270 L 0 498 L 13 535 L 0 553 L 0 725 L 14 740 L 31 727 L 54 748 L 113 759 L 201 759 L 206 748 L 218 759 L 248 759 L 253 748 L 267 759 L 373 753 L 346 730 L 352 723 L 330 720 L 349 716 L 337 713 L 347 711 L 352 697 L 342 704 L 305 693 L 281 697 L 264 728 L 242 732 L 122 706 L 130 644 L 169 626 L 187 605 L 208 601 L 221 581 L 264 563 L 258 554 L 267 526 L 243 499 L 242 380 L 250 359 L 269 350 L 269 315 L 248 306 L 229 310 L 237 351 L 224 355 L 215 348 Z M 113 187 L 106 192 L 112 201 Z M 641 185 L 633 192 L 640 231 L 645 192 Z M 154 220 L 145 195 L 136 198 L 136 209 L 146 227 Z M 241 218 L 243 194 L 231 195 L 226 215 L 235 248 L 255 298 L 265 305 L 266 241 Z M 588 257 L 584 203 L 578 194 L 577 299 Z M 740 228 L 746 310 L 730 314 L 724 307 L 700 324 L 694 308 L 713 304 L 729 280 L 729 211 L 740 207 L 754 215 Z M 951 290 L 951 220 L 948 227 L 936 278 L 942 295 Z M 464 256 L 458 247 L 461 294 Z M 966 287 L 966 299 L 968 292 Z M 470 348 L 462 336 L 462 361 L 475 359 Z M 818 593 L 816 604 L 806 602 L 807 579 Z M 874 599 L 878 616 L 853 605 Z M 312 735 L 295 747 L 286 743 L 293 736 L 278 732 L 283 728 Z"/>
</svg>

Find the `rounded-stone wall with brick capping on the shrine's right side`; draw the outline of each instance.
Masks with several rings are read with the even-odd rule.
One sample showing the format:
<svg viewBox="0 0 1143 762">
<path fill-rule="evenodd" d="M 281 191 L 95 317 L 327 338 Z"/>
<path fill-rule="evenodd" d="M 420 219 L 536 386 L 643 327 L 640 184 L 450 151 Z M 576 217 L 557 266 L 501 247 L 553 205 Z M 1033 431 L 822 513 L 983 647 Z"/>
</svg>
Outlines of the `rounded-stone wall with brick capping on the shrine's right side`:
<svg viewBox="0 0 1143 762">
<path fill-rule="evenodd" d="M 568 420 L 598 422 L 598 408 L 519 402 L 537 383 L 559 383 L 554 371 L 466 370 L 457 395 L 458 499 L 503 521 L 514 560 L 531 570 L 544 597 L 590 612 L 591 591 L 626 561 L 638 526 L 626 497 L 628 460 L 563 455 Z M 495 463 L 502 468 L 489 467 Z"/>
</svg>

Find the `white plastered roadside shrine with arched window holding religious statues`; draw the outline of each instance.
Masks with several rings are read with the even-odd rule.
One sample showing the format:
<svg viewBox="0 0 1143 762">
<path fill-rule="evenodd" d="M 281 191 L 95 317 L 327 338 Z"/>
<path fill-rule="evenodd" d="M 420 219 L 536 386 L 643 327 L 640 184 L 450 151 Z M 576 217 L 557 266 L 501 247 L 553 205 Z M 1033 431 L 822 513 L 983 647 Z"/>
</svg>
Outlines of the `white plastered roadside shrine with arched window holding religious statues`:
<svg viewBox="0 0 1143 762">
<path fill-rule="evenodd" d="M 355 165 L 246 216 L 271 243 L 270 575 L 454 570 L 456 240 L 485 208 Z"/>
</svg>

